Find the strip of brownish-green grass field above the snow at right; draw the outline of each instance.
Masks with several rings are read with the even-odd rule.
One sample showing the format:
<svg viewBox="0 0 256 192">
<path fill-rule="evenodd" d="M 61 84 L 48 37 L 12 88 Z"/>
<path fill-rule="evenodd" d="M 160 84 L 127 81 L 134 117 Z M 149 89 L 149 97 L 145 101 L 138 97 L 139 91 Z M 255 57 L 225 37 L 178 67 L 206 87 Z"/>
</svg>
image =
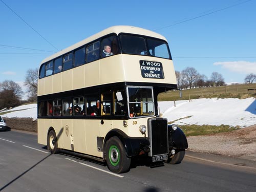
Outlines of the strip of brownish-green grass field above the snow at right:
<svg viewBox="0 0 256 192">
<path fill-rule="evenodd" d="M 181 97 L 180 97 L 181 96 Z M 248 98 L 256 96 L 256 83 L 230 86 L 175 90 L 160 93 L 158 101 L 189 100 L 199 98 Z"/>
</svg>

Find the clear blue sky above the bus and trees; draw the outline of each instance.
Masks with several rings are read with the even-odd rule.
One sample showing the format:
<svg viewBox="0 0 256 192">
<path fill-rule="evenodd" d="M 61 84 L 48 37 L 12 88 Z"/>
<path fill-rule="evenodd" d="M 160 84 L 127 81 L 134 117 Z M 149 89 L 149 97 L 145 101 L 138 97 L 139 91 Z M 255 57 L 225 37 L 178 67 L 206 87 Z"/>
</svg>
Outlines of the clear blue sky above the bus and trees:
<svg viewBox="0 0 256 192">
<path fill-rule="evenodd" d="M 177 71 L 194 67 L 208 78 L 218 72 L 225 82 L 243 82 L 256 74 L 255 7 L 255 0 L 0 0 L 0 82 L 22 83 L 50 52 L 115 25 L 165 36 Z"/>
</svg>

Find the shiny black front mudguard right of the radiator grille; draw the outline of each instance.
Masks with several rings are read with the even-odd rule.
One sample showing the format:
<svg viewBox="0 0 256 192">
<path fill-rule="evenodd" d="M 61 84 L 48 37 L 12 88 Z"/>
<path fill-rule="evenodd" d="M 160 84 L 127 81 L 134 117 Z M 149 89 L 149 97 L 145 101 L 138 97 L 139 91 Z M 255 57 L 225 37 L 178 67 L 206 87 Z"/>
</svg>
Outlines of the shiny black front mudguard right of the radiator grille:
<svg viewBox="0 0 256 192">
<path fill-rule="evenodd" d="M 179 150 L 184 150 L 188 147 L 187 138 L 179 127 L 173 131 L 172 125 L 168 124 L 168 137 L 169 147 L 178 148 Z"/>
</svg>

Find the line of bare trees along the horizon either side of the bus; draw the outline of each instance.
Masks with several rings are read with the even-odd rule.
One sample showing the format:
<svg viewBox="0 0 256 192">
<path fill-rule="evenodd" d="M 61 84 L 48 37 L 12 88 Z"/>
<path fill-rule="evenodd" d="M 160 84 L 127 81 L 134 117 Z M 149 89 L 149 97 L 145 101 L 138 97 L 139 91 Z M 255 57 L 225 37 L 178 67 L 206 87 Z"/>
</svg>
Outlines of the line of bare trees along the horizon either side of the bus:
<svg viewBox="0 0 256 192">
<path fill-rule="evenodd" d="M 208 79 L 193 67 L 187 67 L 181 72 L 175 71 L 178 89 L 193 89 L 202 87 L 215 87 L 225 85 L 222 74 L 212 72 Z M 24 92 L 18 83 L 12 80 L 0 82 L 0 110 L 11 108 L 23 103 L 36 102 L 37 100 L 38 69 L 29 69 L 26 72 L 24 86 L 28 88 L 28 98 L 24 98 Z M 245 83 L 256 82 L 256 74 L 250 73 L 244 78 Z"/>
</svg>

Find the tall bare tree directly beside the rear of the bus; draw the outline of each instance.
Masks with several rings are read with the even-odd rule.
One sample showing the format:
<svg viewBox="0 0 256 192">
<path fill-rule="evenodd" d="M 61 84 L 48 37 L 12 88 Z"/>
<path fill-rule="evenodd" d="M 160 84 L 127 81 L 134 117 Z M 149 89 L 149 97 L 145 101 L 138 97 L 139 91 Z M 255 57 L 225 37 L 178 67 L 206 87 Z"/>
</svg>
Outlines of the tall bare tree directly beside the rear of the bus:
<svg viewBox="0 0 256 192">
<path fill-rule="evenodd" d="M 38 69 L 27 70 L 24 85 L 29 89 L 29 100 L 36 101 L 37 96 L 37 80 L 38 80 Z"/>
</svg>

